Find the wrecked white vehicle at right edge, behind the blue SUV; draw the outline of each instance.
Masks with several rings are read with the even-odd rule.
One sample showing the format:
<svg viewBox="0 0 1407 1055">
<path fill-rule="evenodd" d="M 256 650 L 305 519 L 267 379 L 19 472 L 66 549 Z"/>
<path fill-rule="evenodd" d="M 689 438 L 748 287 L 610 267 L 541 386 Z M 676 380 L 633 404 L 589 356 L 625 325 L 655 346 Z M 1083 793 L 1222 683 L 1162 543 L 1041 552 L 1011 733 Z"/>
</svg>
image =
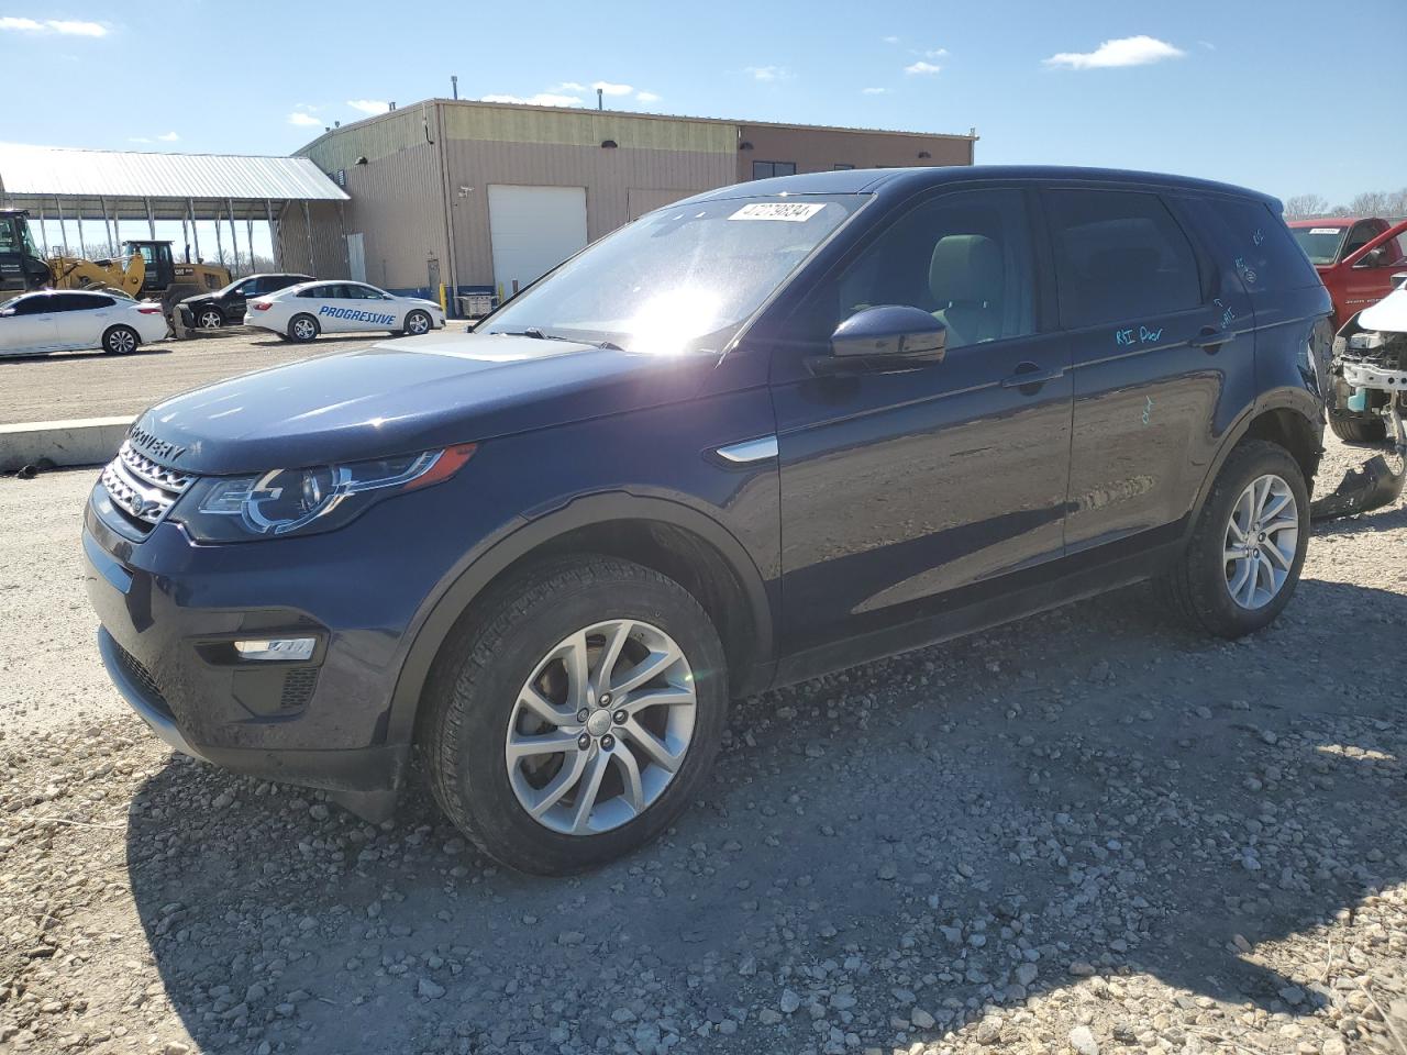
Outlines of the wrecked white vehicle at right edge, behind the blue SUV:
<svg viewBox="0 0 1407 1055">
<path fill-rule="evenodd" d="M 1354 315 L 1334 338 L 1328 416 L 1339 439 L 1392 443 L 1392 461 L 1375 456 L 1338 491 L 1314 502 L 1316 515 L 1362 512 L 1396 502 L 1407 477 L 1407 274 L 1394 290 Z"/>
</svg>

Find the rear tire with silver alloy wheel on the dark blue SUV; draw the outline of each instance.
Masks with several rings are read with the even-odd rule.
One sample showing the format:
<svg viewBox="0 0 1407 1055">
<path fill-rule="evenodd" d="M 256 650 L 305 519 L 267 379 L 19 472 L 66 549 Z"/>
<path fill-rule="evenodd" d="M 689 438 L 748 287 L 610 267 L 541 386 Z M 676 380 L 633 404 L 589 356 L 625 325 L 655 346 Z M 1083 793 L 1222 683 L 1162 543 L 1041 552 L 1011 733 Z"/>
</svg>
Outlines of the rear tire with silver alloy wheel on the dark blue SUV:
<svg viewBox="0 0 1407 1055">
<path fill-rule="evenodd" d="M 1261 499 L 1262 508 L 1271 511 L 1272 519 L 1265 525 L 1269 530 L 1248 532 L 1245 543 L 1259 547 L 1258 551 L 1265 556 L 1227 560 L 1228 551 L 1241 549 L 1231 532 L 1233 515 L 1244 523 L 1254 509 L 1254 505 L 1242 505 L 1248 490 L 1268 477 L 1279 481 Z M 1285 494 L 1294 504 L 1293 516 L 1275 513 L 1278 495 Z M 1255 516 L 1259 513 L 1247 519 L 1254 522 Z M 1275 528 L 1282 522 L 1285 526 Z M 1289 603 L 1304 567 L 1309 537 L 1310 495 L 1299 463 L 1276 443 L 1242 440 L 1217 474 L 1186 550 L 1161 584 L 1162 592 L 1193 627 L 1217 637 L 1244 637 L 1269 626 Z M 1272 550 L 1279 554 L 1278 558 L 1271 556 Z M 1287 550 L 1293 554 L 1286 556 Z M 1242 571 L 1249 571 L 1254 578 L 1242 578 Z M 1276 575 L 1282 578 L 1276 580 Z M 1233 589 L 1241 599 L 1233 596 Z"/>
</svg>

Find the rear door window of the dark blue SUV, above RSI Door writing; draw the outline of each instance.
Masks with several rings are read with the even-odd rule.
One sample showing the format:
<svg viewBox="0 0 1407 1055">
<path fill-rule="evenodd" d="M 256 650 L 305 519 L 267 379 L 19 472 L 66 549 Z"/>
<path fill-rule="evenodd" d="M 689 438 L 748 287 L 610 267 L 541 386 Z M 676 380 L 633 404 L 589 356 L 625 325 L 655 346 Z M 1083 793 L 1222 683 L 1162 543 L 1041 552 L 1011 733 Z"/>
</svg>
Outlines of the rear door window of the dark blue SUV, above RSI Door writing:
<svg viewBox="0 0 1407 1055">
<path fill-rule="evenodd" d="M 1202 304 L 1192 243 L 1157 194 L 1044 194 L 1061 321 L 1071 328 L 1165 315 Z"/>
</svg>

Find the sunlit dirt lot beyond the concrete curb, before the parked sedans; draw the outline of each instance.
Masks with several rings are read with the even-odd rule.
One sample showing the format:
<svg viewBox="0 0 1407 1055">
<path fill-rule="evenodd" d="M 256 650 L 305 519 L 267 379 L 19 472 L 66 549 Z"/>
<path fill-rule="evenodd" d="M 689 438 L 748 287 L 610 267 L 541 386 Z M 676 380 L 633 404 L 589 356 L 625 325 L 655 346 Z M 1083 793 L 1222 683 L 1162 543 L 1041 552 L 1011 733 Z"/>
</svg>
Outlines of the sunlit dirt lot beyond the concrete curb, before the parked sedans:
<svg viewBox="0 0 1407 1055">
<path fill-rule="evenodd" d="M 461 322 L 450 325 L 463 328 Z M 346 352 L 387 336 L 356 333 L 294 345 L 273 333 L 236 326 L 189 340 L 163 340 L 129 356 L 61 352 L 0 359 L 0 422 L 17 425 L 141 414 L 176 392 L 250 370 Z"/>
</svg>

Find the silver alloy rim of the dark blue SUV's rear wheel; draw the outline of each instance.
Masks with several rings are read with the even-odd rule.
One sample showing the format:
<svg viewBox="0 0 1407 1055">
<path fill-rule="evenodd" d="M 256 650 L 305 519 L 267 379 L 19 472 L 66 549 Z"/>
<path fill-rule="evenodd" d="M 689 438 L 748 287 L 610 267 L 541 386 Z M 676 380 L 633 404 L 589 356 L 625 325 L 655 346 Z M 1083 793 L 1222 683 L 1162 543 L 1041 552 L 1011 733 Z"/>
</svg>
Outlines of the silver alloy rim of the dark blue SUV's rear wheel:
<svg viewBox="0 0 1407 1055">
<path fill-rule="evenodd" d="M 1275 474 L 1252 480 L 1231 506 L 1223 543 L 1227 591 L 1241 608 L 1271 603 L 1285 587 L 1300 542 L 1299 505 Z"/>
</svg>

